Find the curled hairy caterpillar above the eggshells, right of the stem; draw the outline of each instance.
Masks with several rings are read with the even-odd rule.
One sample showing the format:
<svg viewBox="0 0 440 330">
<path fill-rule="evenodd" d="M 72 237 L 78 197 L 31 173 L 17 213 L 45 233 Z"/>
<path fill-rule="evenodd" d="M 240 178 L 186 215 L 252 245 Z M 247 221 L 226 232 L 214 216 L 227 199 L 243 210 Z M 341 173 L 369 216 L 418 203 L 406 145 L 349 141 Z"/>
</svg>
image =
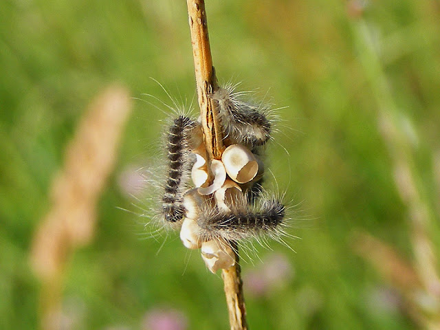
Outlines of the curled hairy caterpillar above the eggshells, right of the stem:
<svg viewBox="0 0 440 330">
<path fill-rule="evenodd" d="M 270 104 L 243 100 L 244 93 L 234 89 L 234 85 L 219 87 L 211 96 L 217 101 L 225 138 L 251 149 L 262 146 L 272 132 L 272 122 L 267 118 Z"/>
</svg>

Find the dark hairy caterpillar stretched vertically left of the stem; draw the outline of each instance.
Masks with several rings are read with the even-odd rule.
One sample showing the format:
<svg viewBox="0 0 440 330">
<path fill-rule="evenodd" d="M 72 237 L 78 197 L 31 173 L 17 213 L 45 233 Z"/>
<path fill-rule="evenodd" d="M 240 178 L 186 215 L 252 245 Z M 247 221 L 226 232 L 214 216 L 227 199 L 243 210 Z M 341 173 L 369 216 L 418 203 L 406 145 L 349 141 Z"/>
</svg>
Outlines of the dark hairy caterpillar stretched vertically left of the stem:
<svg viewBox="0 0 440 330">
<path fill-rule="evenodd" d="M 170 125 L 167 136 L 168 179 L 164 185 L 162 214 L 166 221 L 174 223 L 183 219 L 183 190 L 186 187 L 184 176 L 190 170 L 191 131 L 196 123 L 190 118 L 179 115 Z"/>
</svg>

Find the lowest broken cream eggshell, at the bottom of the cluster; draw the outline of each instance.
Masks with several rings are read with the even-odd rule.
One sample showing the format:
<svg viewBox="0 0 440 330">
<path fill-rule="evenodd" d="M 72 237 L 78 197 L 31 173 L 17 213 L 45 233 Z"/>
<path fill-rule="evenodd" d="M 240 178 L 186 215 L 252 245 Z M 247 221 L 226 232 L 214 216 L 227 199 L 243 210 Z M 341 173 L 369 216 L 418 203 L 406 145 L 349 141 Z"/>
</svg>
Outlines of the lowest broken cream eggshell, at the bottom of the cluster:
<svg viewBox="0 0 440 330">
<path fill-rule="evenodd" d="M 201 243 L 201 257 L 214 274 L 217 270 L 226 270 L 235 265 L 234 251 L 228 244 L 217 239 Z"/>
</svg>

